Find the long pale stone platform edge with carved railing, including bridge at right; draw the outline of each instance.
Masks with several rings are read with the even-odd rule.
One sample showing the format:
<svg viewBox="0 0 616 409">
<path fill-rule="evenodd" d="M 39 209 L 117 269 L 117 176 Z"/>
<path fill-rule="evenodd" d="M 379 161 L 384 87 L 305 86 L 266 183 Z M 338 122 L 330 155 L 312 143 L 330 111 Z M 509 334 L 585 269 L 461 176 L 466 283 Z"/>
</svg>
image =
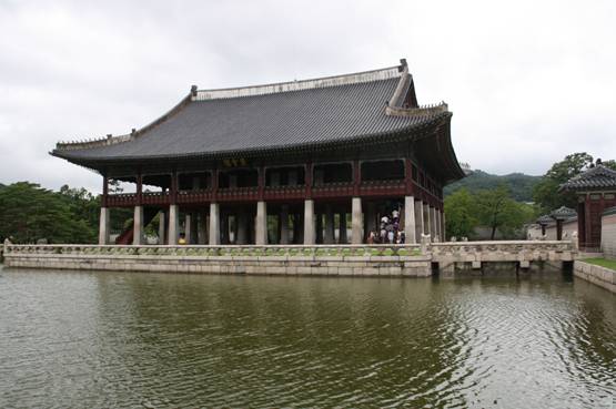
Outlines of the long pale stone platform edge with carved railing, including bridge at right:
<svg viewBox="0 0 616 409">
<path fill-rule="evenodd" d="M 570 242 L 458 242 L 424 245 L 100 246 L 6 245 L 8 267 L 350 276 L 430 276 L 509 263 L 570 262 Z"/>
</svg>

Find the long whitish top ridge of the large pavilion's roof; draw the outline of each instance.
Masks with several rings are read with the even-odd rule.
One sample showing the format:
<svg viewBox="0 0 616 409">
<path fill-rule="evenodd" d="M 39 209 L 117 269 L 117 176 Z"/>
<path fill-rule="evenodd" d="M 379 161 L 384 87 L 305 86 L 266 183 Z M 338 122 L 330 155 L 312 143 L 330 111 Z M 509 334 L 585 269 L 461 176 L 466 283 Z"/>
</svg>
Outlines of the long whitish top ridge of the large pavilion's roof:
<svg viewBox="0 0 616 409">
<path fill-rule="evenodd" d="M 406 68 L 406 61 L 401 60 L 400 65 L 387 67 L 378 70 L 361 71 L 350 74 L 322 76 L 315 79 L 286 81 L 262 85 L 248 85 L 239 88 L 223 88 L 214 90 L 196 90 L 192 101 L 223 100 L 242 96 L 267 95 L 291 91 L 313 90 L 330 86 L 351 85 L 373 81 L 400 78 Z"/>
</svg>

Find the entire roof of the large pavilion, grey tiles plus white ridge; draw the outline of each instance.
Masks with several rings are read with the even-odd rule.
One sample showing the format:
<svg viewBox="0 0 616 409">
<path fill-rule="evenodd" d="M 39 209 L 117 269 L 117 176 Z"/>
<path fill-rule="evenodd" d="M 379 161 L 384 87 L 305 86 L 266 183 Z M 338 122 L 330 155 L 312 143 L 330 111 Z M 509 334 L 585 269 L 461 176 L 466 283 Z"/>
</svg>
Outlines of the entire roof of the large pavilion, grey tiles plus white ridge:
<svg viewBox="0 0 616 409">
<path fill-rule="evenodd" d="M 131 134 L 58 143 L 52 155 L 93 163 L 224 156 L 361 141 L 448 121 L 445 103 L 420 108 L 405 60 L 382 70 L 315 80 L 196 90 Z M 448 137 L 448 135 L 447 135 Z M 450 149 L 448 162 L 455 162 Z M 454 176 L 463 175 L 455 170 Z M 456 177 L 456 178 L 457 178 Z"/>
</svg>

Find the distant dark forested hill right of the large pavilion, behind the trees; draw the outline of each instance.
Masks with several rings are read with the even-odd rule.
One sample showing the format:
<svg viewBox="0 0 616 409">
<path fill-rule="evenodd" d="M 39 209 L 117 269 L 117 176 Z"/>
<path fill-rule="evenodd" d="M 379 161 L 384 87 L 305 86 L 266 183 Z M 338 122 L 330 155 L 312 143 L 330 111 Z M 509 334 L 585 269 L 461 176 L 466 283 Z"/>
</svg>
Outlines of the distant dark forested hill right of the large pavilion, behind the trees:
<svg viewBox="0 0 616 409">
<path fill-rule="evenodd" d="M 492 175 L 483 171 L 473 171 L 468 176 L 452 183 L 445 187 L 445 196 L 455 191 L 466 187 L 469 192 L 492 190 L 505 184 L 509 187 L 512 197 L 518 202 L 533 201 L 533 187 L 541 181 L 542 176 L 529 176 L 524 173 L 512 173 L 509 175 Z"/>
</svg>

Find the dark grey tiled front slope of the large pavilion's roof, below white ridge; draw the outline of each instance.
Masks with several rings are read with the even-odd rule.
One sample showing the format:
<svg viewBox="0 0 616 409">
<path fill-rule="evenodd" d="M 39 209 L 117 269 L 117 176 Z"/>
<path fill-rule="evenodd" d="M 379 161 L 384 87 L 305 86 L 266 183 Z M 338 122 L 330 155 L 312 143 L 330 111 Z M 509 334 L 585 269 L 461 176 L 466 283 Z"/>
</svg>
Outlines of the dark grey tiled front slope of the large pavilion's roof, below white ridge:
<svg viewBox="0 0 616 409">
<path fill-rule="evenodd" d="M 53 154 L 69 160 L 125 160 L 267 150 L 394 133 L 433 121 L 437 114 L 385 114 L 400 80 L 396 75 L 297 91 L 193 99 L 128 142 L 58 149 Z"/>
</svg>

